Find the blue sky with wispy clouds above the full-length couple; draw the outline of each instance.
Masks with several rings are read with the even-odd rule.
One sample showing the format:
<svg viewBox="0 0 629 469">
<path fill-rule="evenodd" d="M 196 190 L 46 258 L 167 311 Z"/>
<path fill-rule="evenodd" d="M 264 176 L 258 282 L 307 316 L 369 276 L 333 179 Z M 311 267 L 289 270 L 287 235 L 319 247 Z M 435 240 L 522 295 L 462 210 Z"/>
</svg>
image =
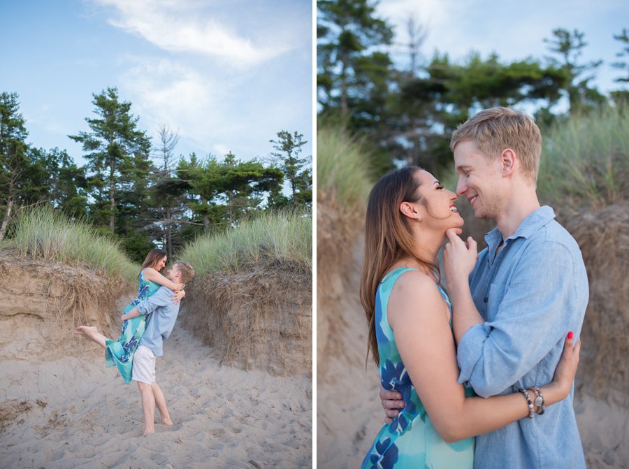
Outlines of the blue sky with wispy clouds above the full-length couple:
<svg viewBox="0 0 629 469">
<path fill-rule="evenodd" d="M 0 92 L 17 92 L 36 147 L 87 131 L 92 94 L 131 101 L 157 146 L 175 154 L 265 158 L 280 130 L 312 154 L 312 3 L 307 0 L 0 0 Z"/>
</svg>

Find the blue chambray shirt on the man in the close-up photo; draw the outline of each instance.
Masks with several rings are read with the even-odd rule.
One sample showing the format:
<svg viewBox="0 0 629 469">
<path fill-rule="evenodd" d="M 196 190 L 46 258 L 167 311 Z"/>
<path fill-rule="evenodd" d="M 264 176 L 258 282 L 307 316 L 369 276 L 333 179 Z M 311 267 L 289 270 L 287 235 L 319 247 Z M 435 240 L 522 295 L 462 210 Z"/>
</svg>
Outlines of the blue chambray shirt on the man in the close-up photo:
<svg viewBox="0 0 629 469">
<path fill-rule="evenodd" d="M 568 331 L 575 340 L 581 333 L 588 278 L 579 246 L 554 217 L 548 206 L 535 210 L 498 255 L 500 231 L 485 237 L 487 248 L 470 275 L 485 323 L 472 326 L 457 350 L 458 382 L 469 382 L 479 396 L 548 384 Z M 573 392 L 543 415 L 477 436 L 474 467 L 585 468 Z"/>
</svg>

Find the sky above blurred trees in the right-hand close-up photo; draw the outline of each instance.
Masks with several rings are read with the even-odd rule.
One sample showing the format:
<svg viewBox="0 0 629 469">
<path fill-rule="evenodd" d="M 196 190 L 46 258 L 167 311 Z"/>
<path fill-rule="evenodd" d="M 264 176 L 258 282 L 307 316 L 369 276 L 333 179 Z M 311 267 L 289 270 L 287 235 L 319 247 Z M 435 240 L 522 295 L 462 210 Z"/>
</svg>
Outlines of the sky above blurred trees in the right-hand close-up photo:
<svg viewBox="0 0 629 469">
<path fill-rule="evenodd" d="M 626 0 L 382 0 L 377 13 L 393 25 L 398 44 L 407 41 L 411 15 L 424 24 L 428 34 L 421 52 L 426 60 L 435 50 L 448 52 L 455 61 L 471 50 L 484 58 L 496 52 L 503 61 L 542 59 L 549 55 L 543 39 L 551 38 L 553 29 L 579 29 L 588 43 L 581 60 L 605 62 L 594 84 L 604 93 L 621 89 L 621 84 L 614 83 L 621 71 L 609 64 L 621 51 L 621 43 L 612 35 L 629 28 Z M 396 45 L 394 50 L 393 57 L 407 64 L 403 47 Z"/>
</svg>

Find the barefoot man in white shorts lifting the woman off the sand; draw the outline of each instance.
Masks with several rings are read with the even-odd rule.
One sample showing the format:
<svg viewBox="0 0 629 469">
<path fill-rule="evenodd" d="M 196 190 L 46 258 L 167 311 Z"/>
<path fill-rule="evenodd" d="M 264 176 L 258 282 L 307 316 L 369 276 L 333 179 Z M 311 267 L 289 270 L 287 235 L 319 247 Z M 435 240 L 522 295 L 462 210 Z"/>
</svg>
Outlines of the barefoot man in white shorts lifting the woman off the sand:
<svg viewBox="0 0 629 469">
<path fill-rule="evenodd" d="M 187 283 L 194 277 L 194 269 L 184 261 L 177 261 L 168 270 L 168 280 L 175 283 Z M 155 381 L 155 357 L 163 356 L 162 344 L 171 335 L 179 313 L 179 303 L 173 303 L 173 291 L 160 287 L 152 296 L 136 308 L 122 315 L 122 321 L 147 315 L 144 334 L 133 354 L 133 381 L 138 382 L 144 413 L 144 435 L 155 433 L 155 406 L 159 410 L 165 425 L 172 425 L 166 399 Z"/>
</svg>

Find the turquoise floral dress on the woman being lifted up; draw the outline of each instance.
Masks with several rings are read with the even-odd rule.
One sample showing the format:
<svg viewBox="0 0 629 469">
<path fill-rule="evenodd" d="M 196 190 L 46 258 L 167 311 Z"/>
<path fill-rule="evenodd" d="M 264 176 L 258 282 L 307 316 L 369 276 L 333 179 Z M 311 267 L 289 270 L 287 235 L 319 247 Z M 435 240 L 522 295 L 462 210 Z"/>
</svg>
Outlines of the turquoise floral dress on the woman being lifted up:
<svg viewBox="0 0 629 469">
<path fill-rule="evenodd" d="M 144 271 L 140 272 L 138 280 L 138 298 L 124 308 L 123 314 L 131 311 L 149 296 L 152 296 L 161 285 L 144 278 Z M 125 383 L 131 382 L 133 375 L 133 353 L 136 352 L 146 326 L 145 315 L 133 317 L 122 323 L 122 334 L 118 340 L 105 340 L 105 366 L 117 366 Z"/>
</svg>

